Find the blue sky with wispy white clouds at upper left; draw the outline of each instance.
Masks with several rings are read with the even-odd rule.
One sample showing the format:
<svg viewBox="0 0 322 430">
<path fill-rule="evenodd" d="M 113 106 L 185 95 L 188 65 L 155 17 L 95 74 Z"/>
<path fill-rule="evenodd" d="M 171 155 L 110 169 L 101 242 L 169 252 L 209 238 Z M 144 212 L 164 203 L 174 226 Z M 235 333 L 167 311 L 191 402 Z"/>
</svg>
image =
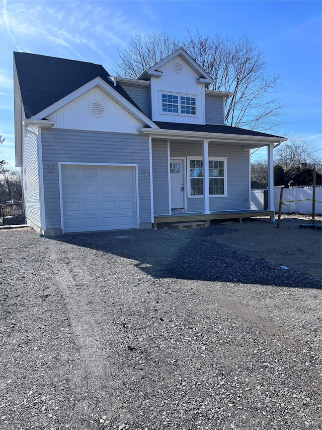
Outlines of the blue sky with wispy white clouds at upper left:
<svg viewBox="0 0 322 430">
<path fill-rule="evenodd" d="M 102 64 L 111 74 L 118 50 L 136 33 L 187 28 L 205 35 L 247 35 L 279 75 L 286 130 L 314 140 L 321 157 L 321 2 L 305 1 L 10 1 L 0 0 L 0 159 L 14 166 L 13 51 Z M 263 153 L 258 151 L 257 158 Z M 254 155 L 254 157 L 255 157 Z"/>
</svg>

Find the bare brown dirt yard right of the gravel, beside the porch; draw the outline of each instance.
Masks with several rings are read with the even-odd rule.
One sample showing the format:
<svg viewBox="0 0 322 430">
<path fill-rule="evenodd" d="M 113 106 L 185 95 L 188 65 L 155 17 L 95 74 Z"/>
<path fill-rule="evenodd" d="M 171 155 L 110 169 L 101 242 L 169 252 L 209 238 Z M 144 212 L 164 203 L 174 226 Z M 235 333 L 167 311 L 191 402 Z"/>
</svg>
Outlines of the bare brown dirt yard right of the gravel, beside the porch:
<svg viewBox="0 0 322 430">
<path fill-rule="evenodd" d="M 279 228 L 276 227 L 277 219 L 275 225 L 268 218 L 252 218 L 243 223 L 228 221 L 221 225 L 237 231 L 221 234 L 211 240 L 252 257 L 321 279 L 321 232 L 299 228 L 300 224 L 309 224 L 310 221 L 310 216 L 297 214 L 282 214 Z M 320 225 L 321 222 L 322 217 L 315 216 L 315 224 Z"/>
</svg>

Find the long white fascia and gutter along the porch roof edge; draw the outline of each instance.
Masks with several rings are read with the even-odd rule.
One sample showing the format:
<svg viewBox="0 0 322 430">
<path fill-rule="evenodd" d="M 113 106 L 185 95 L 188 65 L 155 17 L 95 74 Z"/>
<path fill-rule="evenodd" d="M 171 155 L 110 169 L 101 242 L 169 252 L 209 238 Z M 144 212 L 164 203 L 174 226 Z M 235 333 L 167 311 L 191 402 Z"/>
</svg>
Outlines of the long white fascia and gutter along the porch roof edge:
<svg viewBox="0 0 322 430">
<path fill-rule="evenodd" d="M 272 138 L 265 136 L 245 136 L 245 135 L 231 135 L 226 133 L 200 133 L 189 132 L 182 130 L 150 130 L 142 128 L 138 133 L 148 134 L 155 138 L 172 138 L 172 139 L 193 139 L 193 140 L 210 140 L 212 142 L 233 142 L 240 145 L 251 145 L 253 148 L 260 146 L 273 145 L 275 143 L 284 142 L 285 138 Z"/>
</svg>

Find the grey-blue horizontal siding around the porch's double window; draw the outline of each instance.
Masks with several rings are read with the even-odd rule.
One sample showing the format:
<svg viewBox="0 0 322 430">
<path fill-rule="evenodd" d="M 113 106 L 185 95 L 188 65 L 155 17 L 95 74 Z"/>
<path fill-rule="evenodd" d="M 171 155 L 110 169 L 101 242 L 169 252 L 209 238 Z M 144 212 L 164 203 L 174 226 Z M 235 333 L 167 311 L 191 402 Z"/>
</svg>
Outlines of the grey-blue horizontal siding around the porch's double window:
<svg viewBox="0 0 322 430">
<path fill-rule="evenodd" d="M 227 197 L 209 197 L 210 211 L 250 209 L 249 152 L 242 146 L 209 142 L 209 158 L 227 158 Z M 171 142 L 171 157 L 202 157 L 202 144 Z M 189 169 L 189 166 L 187 167 Z M 189 171 L 189 170 L 188 170 Z M 189 173 L 187 174 L 189 180 Z M 203 199 L 187 197 L 187 213 L 202 212 Z"/>
</svg>

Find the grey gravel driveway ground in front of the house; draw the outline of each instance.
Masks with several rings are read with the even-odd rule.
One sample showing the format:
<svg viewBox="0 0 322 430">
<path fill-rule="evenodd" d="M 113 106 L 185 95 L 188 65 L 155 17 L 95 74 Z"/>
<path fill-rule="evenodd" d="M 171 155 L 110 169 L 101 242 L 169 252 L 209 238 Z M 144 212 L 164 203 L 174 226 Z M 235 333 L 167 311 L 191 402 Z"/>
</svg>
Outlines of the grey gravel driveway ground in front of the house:
<svg viewBox="0 0 322 430">
<path fill-rule="evenodd" d="M 1 231 L 0 427 L 322 428 L 320 281 L 232 231 Z"/>
</svg>

